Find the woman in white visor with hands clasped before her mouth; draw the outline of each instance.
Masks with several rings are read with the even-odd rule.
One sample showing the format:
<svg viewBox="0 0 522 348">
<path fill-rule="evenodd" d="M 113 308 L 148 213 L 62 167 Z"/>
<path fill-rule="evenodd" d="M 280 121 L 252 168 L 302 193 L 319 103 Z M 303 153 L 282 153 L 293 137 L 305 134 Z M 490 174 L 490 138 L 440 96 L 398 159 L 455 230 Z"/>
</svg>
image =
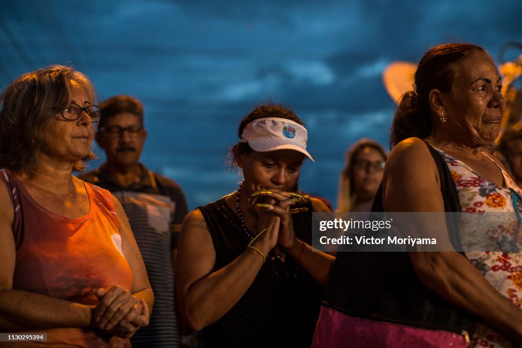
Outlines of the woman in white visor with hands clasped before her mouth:
<svg viewBox="0 0 522 348">
<path fill-rule="evenodd" d="M 239 136 L 231 149 L 243 171 L 238 190 L 183 221 L 180 311 L 204 329 L 206 348 L 309 347 L 333 257 L 309 246 L 312 211 L 328 208 L 295 194 L 305 157 L 313 161 L 307 132 L 293 112 L 263 105 Z"/>
</svg>

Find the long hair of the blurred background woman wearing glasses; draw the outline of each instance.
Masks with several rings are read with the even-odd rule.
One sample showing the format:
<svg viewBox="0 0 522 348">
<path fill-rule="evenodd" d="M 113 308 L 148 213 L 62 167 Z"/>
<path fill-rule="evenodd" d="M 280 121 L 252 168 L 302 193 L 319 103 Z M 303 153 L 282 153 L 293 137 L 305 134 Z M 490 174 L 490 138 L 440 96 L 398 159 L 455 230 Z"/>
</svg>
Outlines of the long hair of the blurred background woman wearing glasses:
<svg viewBox="0 0 522 348">
<path fill-rule="evenodd" d="M 386 161 L 388 154 L 384 147 L 373 139 L 363 138 L 355 142 L 346 152 L 345 167 L 341 171 L 339 191 L 337 193 L 337 211 L 352 211 L 355 201 L 353 193 L 355 187 L 353 186 L 353 164 L 357 159 L 359 153 L 365 148 L 377 150 Z"/>
</svg>

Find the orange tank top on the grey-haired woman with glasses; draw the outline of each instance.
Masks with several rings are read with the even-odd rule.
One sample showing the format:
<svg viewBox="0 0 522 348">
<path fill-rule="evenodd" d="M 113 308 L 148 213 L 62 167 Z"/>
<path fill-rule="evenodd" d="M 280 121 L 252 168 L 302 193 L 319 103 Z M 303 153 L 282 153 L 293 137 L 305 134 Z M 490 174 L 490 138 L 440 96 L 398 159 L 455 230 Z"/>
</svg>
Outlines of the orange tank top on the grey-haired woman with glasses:
<svg viewBox="0 0 522 348">
<path fill-rule="evenodd" d="M 85 305 L 99 303 L 94 295 L 99 287 L 131 289 L 132 272 L 122 252 L 120 222 L 109 191 L 84 182 L 90 210 L 69 219 L 34 201 L 10 171 L 0 170 L 0 177 L 10 190 L 15 210 L 13 289 Z M 48 333 L 46 344 L 56 344 L 51 346 L 110 346 L 110 337 L 87 329 L 32 332 Z"/>
</svg>

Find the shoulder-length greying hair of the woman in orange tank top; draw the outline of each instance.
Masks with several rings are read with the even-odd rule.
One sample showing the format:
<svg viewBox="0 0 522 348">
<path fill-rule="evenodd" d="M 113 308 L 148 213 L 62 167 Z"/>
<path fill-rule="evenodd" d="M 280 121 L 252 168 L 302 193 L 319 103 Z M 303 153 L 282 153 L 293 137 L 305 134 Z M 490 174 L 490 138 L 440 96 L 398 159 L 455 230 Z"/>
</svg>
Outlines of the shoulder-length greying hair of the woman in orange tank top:
<svg viewBox="0 0 522 348">
<path fill-rule="evenodd" d="M 68 66 L 54 65 L 23 74 L 0 95 L 0 167 L 30 174 L 46 143 L 48 121 L 62 112 L 69 102 L 70 81 L 85 90 L 96 104 L 96 92 L 84 74 Z M 85 169 L 89 154 L 73 167 Z"/>
</svg>

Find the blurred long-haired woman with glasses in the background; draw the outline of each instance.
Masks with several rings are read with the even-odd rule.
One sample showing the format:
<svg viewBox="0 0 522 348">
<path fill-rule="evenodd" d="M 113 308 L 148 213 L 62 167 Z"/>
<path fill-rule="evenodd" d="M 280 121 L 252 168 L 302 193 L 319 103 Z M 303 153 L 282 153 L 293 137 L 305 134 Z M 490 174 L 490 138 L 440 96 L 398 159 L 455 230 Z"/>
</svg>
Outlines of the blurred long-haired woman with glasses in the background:
<svg viewBox="0 0 522 348">
<path fill-rule="evenodd" d="M 337 211 L 369 212 L 383 179 L 386 150 L 372 139 L 361 139 L 346 152 Z"/>
</svg>

